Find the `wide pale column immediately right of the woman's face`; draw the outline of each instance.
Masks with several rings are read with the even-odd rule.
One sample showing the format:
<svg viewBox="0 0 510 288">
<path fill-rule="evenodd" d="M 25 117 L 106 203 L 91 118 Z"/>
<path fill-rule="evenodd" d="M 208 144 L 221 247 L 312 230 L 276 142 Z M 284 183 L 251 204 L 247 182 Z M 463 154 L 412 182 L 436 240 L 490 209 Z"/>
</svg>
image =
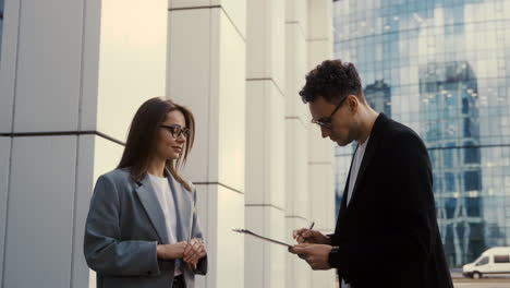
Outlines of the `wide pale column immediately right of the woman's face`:
<svg viewBox="0 0 510 288">
<path fill-rule="evenodd" d="M 185 176 L 197 187 L 209 272 L 197 287 L 244 286 L 244 0 L 171 0 L 167 95 L 191 108 L 195 146 Z"/>
</svg>

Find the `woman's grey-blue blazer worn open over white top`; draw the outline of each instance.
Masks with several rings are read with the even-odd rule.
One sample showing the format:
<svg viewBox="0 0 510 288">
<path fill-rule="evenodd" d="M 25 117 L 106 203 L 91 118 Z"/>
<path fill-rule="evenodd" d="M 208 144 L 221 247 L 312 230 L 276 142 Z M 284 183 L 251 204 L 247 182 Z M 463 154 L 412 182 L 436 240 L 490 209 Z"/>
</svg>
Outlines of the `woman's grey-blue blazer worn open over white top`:
<svg viewBox="0 0 510 288">
<path fill-rule="evenodd" d="M 168 171 L 167 171 L 168 172 Z M 170 175 L 170 173 L 168 173 Z M 169 176 L 178 214 L 178 241 L 203 239 L 196 215 L 196 190 L 185 190 Z M 190 183 L 191 184 L 191 183 Z M 169 243 L 161 206 L 146 176 L 141 182 L 125 170 L 99 177 L 85 226 L 84 253 L 97 273 L 97 287 L 172 287 L 175 261 L 161 261 L 156 245 Z M 181 265 L 187 288 L 195 274 L 207 273 L 207 256 L 196 271 Z"/>
</svg>

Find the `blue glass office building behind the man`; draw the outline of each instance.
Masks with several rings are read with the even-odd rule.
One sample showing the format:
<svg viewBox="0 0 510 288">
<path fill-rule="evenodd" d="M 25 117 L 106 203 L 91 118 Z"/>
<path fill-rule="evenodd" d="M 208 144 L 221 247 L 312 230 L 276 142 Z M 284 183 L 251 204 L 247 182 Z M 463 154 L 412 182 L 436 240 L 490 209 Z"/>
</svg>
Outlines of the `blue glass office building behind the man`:
<svg viewBox="0 0 510 288">
<path fill-rule="evenodd" d="M 510 245 L 510 1 L 338 0 L 333 25 L 371 106 L 428 147 L 449 264 Z M 337 201 L 353 145 L 336 147 Z"/>
</svg>

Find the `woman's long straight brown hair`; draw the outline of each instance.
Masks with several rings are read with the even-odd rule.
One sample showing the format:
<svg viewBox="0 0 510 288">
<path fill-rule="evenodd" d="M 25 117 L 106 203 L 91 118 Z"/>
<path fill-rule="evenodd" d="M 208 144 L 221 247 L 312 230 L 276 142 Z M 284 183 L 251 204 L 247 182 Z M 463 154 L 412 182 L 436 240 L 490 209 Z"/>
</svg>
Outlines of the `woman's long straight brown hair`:
<svg viewBox="0 0 510 288">
<path fill-rule="evenodd" d="M 190 134 L 186 136 L 184 153 L 177 160 L 167 160 L 166 166 L 173 178 L 192 191 L 190 184 L 179 175 L 178 170 L 186 159 L 195 140 L 195 119 L 185 107 L 172 100 L 163 100 L 159 97 L 148 99 L 136 111 L 131 122 L 127 142 L 118 169 L 127 169 L 135 182 L 142 181 L 149 168 L 149 161 L 156 153 L 159 125 L 165 122 L 167 113 L 179 110 L 184 115 L 186 128 Z"/>
</svg>

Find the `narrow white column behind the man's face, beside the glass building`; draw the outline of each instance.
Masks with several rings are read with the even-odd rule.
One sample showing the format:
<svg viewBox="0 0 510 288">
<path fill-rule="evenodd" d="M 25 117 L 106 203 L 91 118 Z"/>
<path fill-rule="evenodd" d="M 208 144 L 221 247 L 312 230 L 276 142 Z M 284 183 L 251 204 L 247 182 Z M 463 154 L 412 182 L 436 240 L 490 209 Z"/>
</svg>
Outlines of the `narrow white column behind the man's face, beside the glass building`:
<svg viewBox="0 0 510 288">
<path fill-rule="evenodd" d="M 330 0 L 308 0 L 307 71 L 332 57 L 332 19 Z M 323 139 L 320 129 L 308 130 L 308 191 L 311 218 L 323 233 L 335 231 L 335 189 L 332 178 L 333 145 Z M 313 287 L 336 287 L 336 271 L 313 272 Z"/>
</svg>

